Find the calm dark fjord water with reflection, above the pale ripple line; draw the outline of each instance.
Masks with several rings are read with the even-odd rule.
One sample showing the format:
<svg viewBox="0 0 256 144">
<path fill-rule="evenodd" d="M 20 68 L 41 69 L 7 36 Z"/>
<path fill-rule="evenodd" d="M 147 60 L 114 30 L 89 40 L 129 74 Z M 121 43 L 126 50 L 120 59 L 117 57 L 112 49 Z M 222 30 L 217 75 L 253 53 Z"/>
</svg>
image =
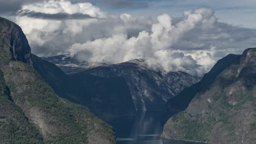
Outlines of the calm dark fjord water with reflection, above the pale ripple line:
<svg viewBox="0 0 256 144">
<path fill-rule="evenodd" d="M 161 111 L 141 111 L 135 116 L 124 116 L 113 119 L 104 119 L 115 129 L 120 139 L 137 139 L 141 135 L 160 135 Z"/>
</svg>

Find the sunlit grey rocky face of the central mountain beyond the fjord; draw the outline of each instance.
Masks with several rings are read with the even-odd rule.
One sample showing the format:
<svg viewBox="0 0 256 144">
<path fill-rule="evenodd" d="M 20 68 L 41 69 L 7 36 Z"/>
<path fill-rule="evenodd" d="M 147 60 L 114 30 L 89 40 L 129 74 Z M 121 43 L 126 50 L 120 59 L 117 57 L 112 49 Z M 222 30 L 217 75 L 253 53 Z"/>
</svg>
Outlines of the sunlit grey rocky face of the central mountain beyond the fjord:
<svg viewBox="0 0 256 144">
<path fill-rule="evenodd" d="M 167 100 L 200 80 L 181 71 L 165 73 L 149 69 L 143 59 L 96 67 L 84 73 L 100 77 L 124 77 L 136 110 L 162 110 Z"/>
</svg>

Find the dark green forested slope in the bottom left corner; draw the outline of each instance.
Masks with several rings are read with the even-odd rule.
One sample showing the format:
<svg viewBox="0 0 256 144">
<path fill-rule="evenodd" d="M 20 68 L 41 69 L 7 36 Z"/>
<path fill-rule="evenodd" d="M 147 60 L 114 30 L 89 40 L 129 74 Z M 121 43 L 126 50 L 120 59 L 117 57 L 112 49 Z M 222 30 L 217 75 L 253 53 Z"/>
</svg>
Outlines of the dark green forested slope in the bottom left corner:
<svg viewBox="0 0 256 144">
<path fill-rule="evenodd" d="M 11 99 L 0 70 L 0 143 L 43 143 L 39 131 Z"/>
</svg>

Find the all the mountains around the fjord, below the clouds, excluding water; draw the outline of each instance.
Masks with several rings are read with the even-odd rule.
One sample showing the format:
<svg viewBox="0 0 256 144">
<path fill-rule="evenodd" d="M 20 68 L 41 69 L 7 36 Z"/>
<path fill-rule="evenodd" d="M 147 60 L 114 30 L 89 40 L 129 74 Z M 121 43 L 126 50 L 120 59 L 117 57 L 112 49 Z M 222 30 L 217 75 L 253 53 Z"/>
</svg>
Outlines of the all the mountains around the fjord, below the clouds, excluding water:
<svg viewBox="0 0 256 144">
<path fill-rule="evenodd" d="M 256 48 L 220 59 L 202 79 L 144 59 L 41 58 L 0 17 L 0 143 L 116 143 L 113 118 L 162 110 L 163 138 L 256 143 L 255 71 Z"/>
</svg>

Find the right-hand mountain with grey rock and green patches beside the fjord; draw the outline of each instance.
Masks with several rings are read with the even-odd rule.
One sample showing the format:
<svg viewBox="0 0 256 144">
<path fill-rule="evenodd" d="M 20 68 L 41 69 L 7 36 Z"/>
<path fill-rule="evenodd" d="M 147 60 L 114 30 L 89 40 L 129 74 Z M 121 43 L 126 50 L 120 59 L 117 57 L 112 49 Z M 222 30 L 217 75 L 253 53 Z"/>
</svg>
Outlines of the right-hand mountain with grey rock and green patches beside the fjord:
<svg viewBox="0 0 256 144">
<path fill-rule="evenodd" d="M 256 49 L 228 55 L 170 100 L 162 137 L 209 143 L 256 143 Z M 203 83 L 205 86 L 203 86 Z M 178 101 L 180 103 L 174 104 Z M 187 107 L 186 107 L 187 106 Z"/>
</svg>

